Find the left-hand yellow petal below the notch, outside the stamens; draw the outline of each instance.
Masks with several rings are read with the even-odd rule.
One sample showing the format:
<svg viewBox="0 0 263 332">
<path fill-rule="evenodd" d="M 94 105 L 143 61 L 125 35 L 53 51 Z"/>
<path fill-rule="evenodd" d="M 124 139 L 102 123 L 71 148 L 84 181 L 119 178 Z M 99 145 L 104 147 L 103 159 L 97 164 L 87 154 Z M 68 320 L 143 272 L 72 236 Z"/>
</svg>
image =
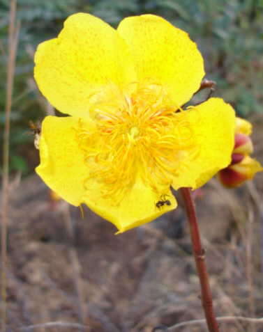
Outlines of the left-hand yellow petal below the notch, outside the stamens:
<svg viewBox="0 0 263 332">
<path fill-rule="evenodd" d="M 40 137 L 40 165 L 36 173 L 61 198 L 80 205 L 88 176 L 84 155 L 75 139 L 78 119 L 47 116 Z"/>
</svg>

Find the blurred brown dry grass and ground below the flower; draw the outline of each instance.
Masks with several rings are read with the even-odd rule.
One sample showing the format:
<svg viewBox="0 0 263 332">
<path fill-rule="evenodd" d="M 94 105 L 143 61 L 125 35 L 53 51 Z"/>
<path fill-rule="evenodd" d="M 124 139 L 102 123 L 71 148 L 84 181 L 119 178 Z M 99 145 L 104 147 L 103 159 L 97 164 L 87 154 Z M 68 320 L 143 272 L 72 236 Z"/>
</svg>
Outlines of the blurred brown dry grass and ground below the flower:
<svg viewBox="0 0 263 332">
<path fill-rule="evenodd" d="M 263 117 L 254 122 L 262 161 Z M 212 180 L 197 191 L 217 316 L 263 316 L 262 192 L 263 175 L 239 189 Z M 8 331 L 150 332 L 204 317 L 182 207 L 116 236 L 114 226 L 87 208 L 82 219 L 77 208 L 52 201 L 33 175 L 11 182 L 9 214 Z M 220 328 L 260 332 L 263 324 L 233 319 Z"/>
</svg>

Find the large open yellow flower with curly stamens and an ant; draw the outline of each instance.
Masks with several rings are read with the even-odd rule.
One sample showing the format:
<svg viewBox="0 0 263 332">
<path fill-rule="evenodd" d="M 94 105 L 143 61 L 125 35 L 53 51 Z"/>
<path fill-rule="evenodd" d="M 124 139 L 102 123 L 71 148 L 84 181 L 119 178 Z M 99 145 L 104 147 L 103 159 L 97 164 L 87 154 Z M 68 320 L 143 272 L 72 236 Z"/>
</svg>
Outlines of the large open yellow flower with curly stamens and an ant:
<svg viewBox="0 0 263 332">
<path fill-rule="evenodd" d="M 230 164 L 234 111 L 220 98 L 181 109 L 203 59 L 165 19 L 127 17 L 115 30 L 78 13 L 35 59 L 41 92 L 70 115 L 43 121 L 36 172 L 119 232 L 174 209 L 171 186 L 195 189 Z"/>
</svg>

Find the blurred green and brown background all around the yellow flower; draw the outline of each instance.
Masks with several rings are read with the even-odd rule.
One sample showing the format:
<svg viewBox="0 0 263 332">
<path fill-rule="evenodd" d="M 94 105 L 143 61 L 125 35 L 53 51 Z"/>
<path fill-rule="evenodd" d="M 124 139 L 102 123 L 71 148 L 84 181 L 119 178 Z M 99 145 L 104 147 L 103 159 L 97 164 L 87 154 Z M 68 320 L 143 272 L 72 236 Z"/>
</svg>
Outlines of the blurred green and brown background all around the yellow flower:
<svg viewBox="0 0 263 332">
<path fill-rule="evenodd" d="M 1 146 L 9 5 L 9 0 L 0 0 Z M 87 209 L 81 219 L 79 210 L 52 196 L 33 175 L 38 151 L 29 121 L 42 120 L 50 111 L 33 81 L 33 54 L 39 42 L 57 36 L 68 15 L 80 11 L 115 27 L 123 17 L 153 13 L 187 31 L 204 56 L 206 78 L 217 83 L 215 95 L 255 124 L 255 155 L 263 161 L 263 0 L 17 0 L 8 331 L 150 332 L 158 324 L 202 318 L 180 207 L 115 237 L 110 223 Z M 196 194 L 218 315 L 263 316 L 262 192 L 263 178 L 257 175 L 255 182 L 233 191 L 212 180 Z M 54 321 L 72 325 L 45 325 Z M 234 320 L 221 328 L 260 332 L 263 324 Z M 206 329 L 191 326 L 176 331 Z"/>
</svg>

